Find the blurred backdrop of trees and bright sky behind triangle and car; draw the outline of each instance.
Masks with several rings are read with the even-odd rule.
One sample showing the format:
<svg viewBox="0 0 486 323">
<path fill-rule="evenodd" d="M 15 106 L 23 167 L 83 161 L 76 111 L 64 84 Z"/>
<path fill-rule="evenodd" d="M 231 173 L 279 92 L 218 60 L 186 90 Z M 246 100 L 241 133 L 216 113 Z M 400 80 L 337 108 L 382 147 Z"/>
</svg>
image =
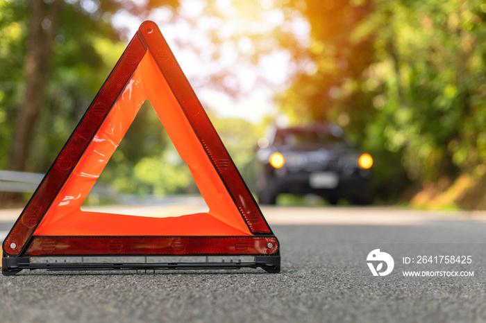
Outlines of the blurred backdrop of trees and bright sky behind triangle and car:
<svg viewBox="0 0 486 323">
<path fill-rule="evenodd" d="M 374 157 L 376 203 L 486 209 L 479 0 L 0 0 L 0 170 L 49 170 L 145 19 L 250 189 L 269 125 L 331 121 Z M 145 105 L 99 183 L 197 193 Z M 0 207 L 29 194 L 0 192 Z"/>
</svg>

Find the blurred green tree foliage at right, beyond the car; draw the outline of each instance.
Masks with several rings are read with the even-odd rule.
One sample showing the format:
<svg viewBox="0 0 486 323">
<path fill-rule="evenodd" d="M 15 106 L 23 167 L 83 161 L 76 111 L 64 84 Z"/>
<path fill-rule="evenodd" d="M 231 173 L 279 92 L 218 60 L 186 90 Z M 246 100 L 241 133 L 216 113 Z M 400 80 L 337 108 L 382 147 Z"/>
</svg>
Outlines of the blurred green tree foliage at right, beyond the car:
<svg viewBox="0 0 486 323">
<path fill-rule="evenodd" d="M 471 173 L 486 157 L 485 5 L 377 1 L 376 8 L 357 31 L 376 35 L 364 90 L 380 92 L 374 127 L 385 147 L 402 152 L 413 180 Z"/>
</svg>

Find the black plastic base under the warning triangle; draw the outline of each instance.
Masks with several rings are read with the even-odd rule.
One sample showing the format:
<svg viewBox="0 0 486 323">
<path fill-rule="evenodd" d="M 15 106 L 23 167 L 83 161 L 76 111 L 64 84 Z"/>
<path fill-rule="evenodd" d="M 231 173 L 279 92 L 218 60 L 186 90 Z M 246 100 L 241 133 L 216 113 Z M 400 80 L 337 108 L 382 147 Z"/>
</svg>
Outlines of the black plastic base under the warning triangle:
<svg viewBox="0 0 486 323">
<path fill-rule="evenodd" d="M 242 268 L 262 268 L 269 273 L 280 272 L 280 255 L 255 256 L 254 261 L 237 262 L 171 262 L 171 263 L 31 263 L 28 257 L 7 257 L 2 259 L 2 274 L 12 276 L 28 269 L 45 270 L 139 270 L 147 272 L 156 270 L 235 270 Z"/>
</svg>

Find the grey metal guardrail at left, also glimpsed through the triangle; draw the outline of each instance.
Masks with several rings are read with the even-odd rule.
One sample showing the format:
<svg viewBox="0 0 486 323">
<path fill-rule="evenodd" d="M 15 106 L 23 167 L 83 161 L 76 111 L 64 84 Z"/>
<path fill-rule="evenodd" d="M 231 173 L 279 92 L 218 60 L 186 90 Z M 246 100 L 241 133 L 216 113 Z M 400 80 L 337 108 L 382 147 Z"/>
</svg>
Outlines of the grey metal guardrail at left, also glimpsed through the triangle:
<svg viewBox="0 0 486 323">
<path fill-rule="evenodd" d="M 44 175 L 41 173 L 0 171 L 0 191 L 33 193 L 44 178 Z M 91 193 L 108 198 L 115 198 L 117 196 L 114 190 L 100 183 L 93 187 Z"/>
</svg>

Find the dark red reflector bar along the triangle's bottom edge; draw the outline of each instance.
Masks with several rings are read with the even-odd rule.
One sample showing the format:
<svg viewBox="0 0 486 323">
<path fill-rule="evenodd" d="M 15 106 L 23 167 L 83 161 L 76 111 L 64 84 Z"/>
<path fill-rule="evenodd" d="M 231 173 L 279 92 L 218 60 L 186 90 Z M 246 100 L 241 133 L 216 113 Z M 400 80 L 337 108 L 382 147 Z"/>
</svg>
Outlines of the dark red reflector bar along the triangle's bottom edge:
<svg viewBox="0 0 486 323">
<path fill-rule="evenodd" d="M 274 254 L 276 238 L 255 236 L 35 236 L 27 256 Z"/>
</svg>

